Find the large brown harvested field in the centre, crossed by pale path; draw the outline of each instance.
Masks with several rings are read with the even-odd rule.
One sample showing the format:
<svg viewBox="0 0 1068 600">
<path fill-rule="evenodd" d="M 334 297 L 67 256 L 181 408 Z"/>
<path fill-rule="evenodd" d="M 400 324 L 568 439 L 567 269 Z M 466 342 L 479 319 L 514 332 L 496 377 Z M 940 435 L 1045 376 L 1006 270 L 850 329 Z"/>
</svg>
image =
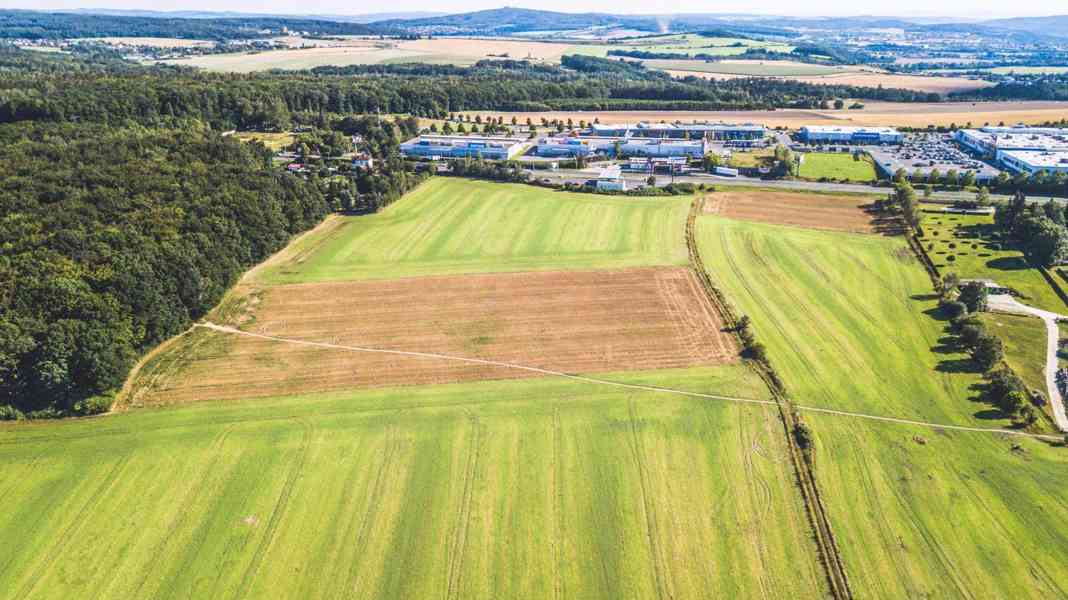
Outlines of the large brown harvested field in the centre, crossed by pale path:
<svg viewBox="0 0 1068 600">
<path fill-rule="evenodd" d="M 249 331 L 566 373 L 737 360 L 686 268 L 417 278 L 270 287 Z M 145 404 L 530 377 L 505 366 L 308 347 L 239 334 L 203 347 Z M 194 353 L 195 354 L 195 353 Z"/>
</svg>

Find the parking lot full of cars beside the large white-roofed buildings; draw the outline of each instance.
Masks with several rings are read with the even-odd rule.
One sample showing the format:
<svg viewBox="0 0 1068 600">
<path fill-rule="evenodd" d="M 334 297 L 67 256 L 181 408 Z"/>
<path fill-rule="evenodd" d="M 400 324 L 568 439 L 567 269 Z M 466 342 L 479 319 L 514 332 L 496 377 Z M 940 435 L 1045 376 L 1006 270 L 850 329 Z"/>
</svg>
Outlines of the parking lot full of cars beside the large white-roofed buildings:
<svg viewBox="0 0 1068 600">
<path fill-rule="evenodd" d="M 976 181 L 989 181 L 1000 171 L 962 151 L 947 133 L 912 133 L 898 146 L 867 146 L 881 175 L 893 177 L 898 169 L 909 176 L 921 173 L 925 177 L 936 169 L 943 176 L 952 171 L 963 175 L 975 173 Z"/>
</svg>

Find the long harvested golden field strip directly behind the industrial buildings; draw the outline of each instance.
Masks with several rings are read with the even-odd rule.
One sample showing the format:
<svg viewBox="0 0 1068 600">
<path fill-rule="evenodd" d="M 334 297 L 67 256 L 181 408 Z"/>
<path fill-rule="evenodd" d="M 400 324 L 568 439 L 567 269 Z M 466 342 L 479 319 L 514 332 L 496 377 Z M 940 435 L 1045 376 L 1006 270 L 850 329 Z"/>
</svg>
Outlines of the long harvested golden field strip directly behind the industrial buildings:
<svg viewBox="0 0 1068 600">
<path fill-rule="evenodd" d="M 864 102 L 861 110 L 631 110 L 631 111 L 550 111 L 550 112 L 500 112 L 469 111 L 473 116 L 481 114 L 503 116 L 505 121 L 516 116 L 520 123 L 527 119 L 535 123 L 545 117 L 587 122 L 595 119 L 601 123 L 637 123 L 681 121 L 723 121 L 726 123 L 761 123 L 768 127 L 800 127 L 802 125 L 835 123 L 841 125 L 886 125 L 898 127 L 926 127 L 927 125 L 948 126 L 971 122 L 979 126 L 984 123 L 1027 123 L 1040 124 L 1068 117 L 1068 101 L 1018 101 L 1018 102 Z"/>
</svg>

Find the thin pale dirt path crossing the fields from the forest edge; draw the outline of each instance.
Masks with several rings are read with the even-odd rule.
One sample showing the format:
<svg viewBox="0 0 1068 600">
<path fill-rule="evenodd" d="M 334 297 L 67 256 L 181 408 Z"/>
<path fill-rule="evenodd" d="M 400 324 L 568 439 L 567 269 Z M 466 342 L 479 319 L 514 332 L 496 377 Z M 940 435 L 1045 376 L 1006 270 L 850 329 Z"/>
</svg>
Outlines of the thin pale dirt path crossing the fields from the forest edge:
<svg viewBox="0 0 1068 600">
<path fill-rule="evenodd" d="M 503 366 L 503 367 L 507 367 L 507 368 L 515 368 L 515 369 L 519 369 L 519 370 L 528 370 L 528 372 L 538 373 L 538 374 L 547 375 L 547 376 L 551 376 L 551 377 L 560 377 L 562 379 L 570 379 L 570 380 L 574 380 L 574 381 L 582 381 L 582 382 L 585 382 L 585 383 L 595 383 L 595 384 L 598 384 L 598 385 L 612 385 L 612 386 L 615 386 L 615 388 L 624 388 L 624 389 L 627 389 L 627 390 L 641 390 L 641 391 L 644 391 L 644 392 L 660 392 L 660 393 L 664 393 L 664 394 L 675 394 L 677 396 L 689 396 L 689 397 L 693 397 L 693 398 L 704 398 L 704 399 L 709 399 L 709 400 L 723 400 L 723 401 L 737 402 L 737 404 L 760 405 L 760 406 L 778 406 L 778 402 L 775 400 L 761 400 L 761 399 L 758 399 L 758 398 L 742 398 L 740 396 L 724 396 L 724 395 L 721 395 L 721 394 L 708 394 L 706 392 L 693 392 L 693 391 L 690 391 L 690 390 L 678 390 L 678 389 L 675 389 L 675 388 L 665 388 L 663 385 L 647 385 L 647 384 L 643 384 L 643 383 L 626 383 L 624 381 L 612 381 L 611 379 L 599 379 L 599 378 L 596 378 L 596 377 L 588 377 L 588 376 L 585 376 L 585 375 L 575 375 L 575 374 L 571 374 L 571 373 L 564 373 L 564 372 L 561 372 L 561 370 L 552 370 L 552 369 L 548 369 L 548 368 L 541 368 L 541 367 L 529 366 L 529 365 L 522 365 L 522 364 L 516 364 L 516 363 L 506 363 L 506 362 L 501 362 L 501 361 L 489 361 L 489 360 L 485 360 L 485 359 L 472 359 L 472 358 L 469 358 L 469 357 L 457 357 L 457 356 L 452 356 L 452 354 L 440 354 L 440 353 L 435 353 L 435 352 L 414 352 L 414 351 L 409 351 L 409 350 L 390 350 L 390 349 L 386 349 L 386 348 L 370 348 L 370 347 L 365 347 L 365 346 L 343 346 L 343 345 L 340 345 L 340 344 L 328 344 L 326 342 L 309 342 L 309 341 L 305 341 L 305 340 L 293 340 L 293 338 L 288 338 L 288 337 L 278 337 L 278 336 L 274 336 L 274 335 L 265 335 L 265 334 L 262 334 L 262 333 L 253 333 L 251 331 L 242 331 L 242 330 L 237 329 L 237 328 L 226 327 L 226 326 L 220 326 L 220 325 L 215 325 L 215 323 L 210 323 L 210 322 L 195 323 L 195 325 L 193 325 L 193 327 L 201 327 L 201 328 L 205 328 L 205 329 L 210 329 L 210 330 L 217 331 L 219 333 L 230 333 L 230 334 L 235 334 L 235 335 L 246 335 L 246 336 L 249 336 L 249 337 L 257 337 L 257 338 L 261 338 L 261 340 L 269 340 L 269 341 L 281 342 L 281 343 L 285 343 L 285 344 L 299 344 L 301 346 L 312 346 L 312 347 L 317 347 L 317 348 L 332 348 L 332 349 L 335 349 L 335 350 L 347 350 L 347 351 L 351 351 L 351 352 L 371 352 L 371 353 L 378 352 L 378 353 L 395 354 L 395 356 L 402 356 L 402 357 L 415 357 L 415 358 L 424 358 L 424 359 L 440 359 L 440 360 L 449 360 L 449 361 L 469 362 L 469 363 L 475 363 L 475 364 L 487 364 L 487 365 L 492 365 L 492 366 Z M 1016 430 L 1012 430 L 1012 429 L 1000 429 L 998 427 L 969 427 L 967 425 L 947 425 L 947 424 L 943 424 L 943 423 L 933 423 L 933 422 L 929 422 L 929 421 L 917 421 L 917 420 L 909 420 L 909 419 L 896 417 L 896 416 L 885 416 L 885 415 L 880 415 L 880 414 L 868 414 L 868 413 L 863 413 L 863 412 L 850 412 L 850 411 L 845 411 L 845 410 L 835 410 L 835 409 L 819 408 L 819 407 L 808 407 L 808 406 L 795 406 L 794 408 L 796 408 L 797 410 L 800 410 L 802 412 L 829 413 L 829 414 L 835 414 L 835 415 L 838 415 L 838 416 L 850 416 L 850 417 L 854 417 L 854 419 L 865 419 L 865 420 L 869 420 L 869 421 L 879 421 L 879 422 L 883 422 L 883 423 L 896 423 L 896 424 L 899 424 L 899 425 L 914 425 L 914 426 L 918 426 L 918 427 L 927 427 L 927 428 L 930 428 L 930 429 L 952 429 L 952 430 L 956 430 L 956 431 L 970 431 L 970 432 L 974 432 L 974 433 L 1004 433 L 1006 436 L 1018 436 L 1018 437 L 1021 437 L 1021 438 L 1033 438 L 1033 439 L 1036 439 L 1036 440 L 1045 440 L 1045 441 L 1050 441 L 1050 442 L 1061 442 L 1061 441 L 1064 440 L 1064 437 L 1058 437 L 1058 436 L 1050 436 L 1050 435 L 1046 435 L 1046 433 L 1030 433 L 1027 431 L 1016 431 Z"/>
</svg>

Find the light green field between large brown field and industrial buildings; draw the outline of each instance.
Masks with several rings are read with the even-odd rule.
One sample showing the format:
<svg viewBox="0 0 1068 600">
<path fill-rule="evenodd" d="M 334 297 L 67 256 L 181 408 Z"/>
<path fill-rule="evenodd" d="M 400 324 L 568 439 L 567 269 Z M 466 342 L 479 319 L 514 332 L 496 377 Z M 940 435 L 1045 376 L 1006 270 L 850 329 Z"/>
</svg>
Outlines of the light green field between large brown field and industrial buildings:
<svg viewBox="0 0 1068 600">
<path fill-rule="evenodd" d="M 263 283 L 687 263 L 689 198 L 615 198 L 435 177 L 381 212 L 341 217 Z"/>
</svg>

